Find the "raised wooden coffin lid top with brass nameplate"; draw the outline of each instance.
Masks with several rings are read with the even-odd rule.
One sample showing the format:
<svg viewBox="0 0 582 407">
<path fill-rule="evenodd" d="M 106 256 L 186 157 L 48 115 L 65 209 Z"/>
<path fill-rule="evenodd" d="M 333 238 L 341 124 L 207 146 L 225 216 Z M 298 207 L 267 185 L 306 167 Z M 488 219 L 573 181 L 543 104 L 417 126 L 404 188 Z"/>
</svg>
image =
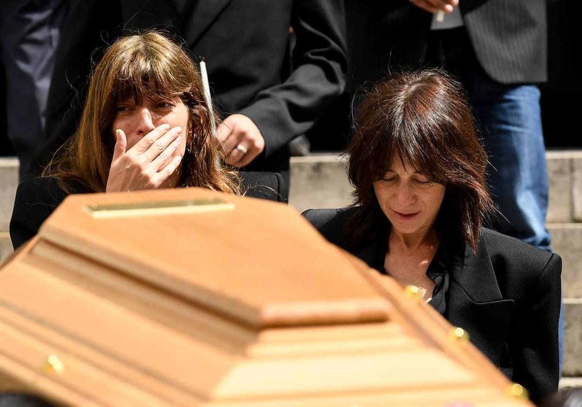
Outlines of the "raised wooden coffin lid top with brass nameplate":
<svg viewBox="0 0 582 407">
<path fill-rule="evenodd" d="M 345 254 L 297 223 L 285 204 L 189 188 L 69 196 L 39 234 L 253 327 L 386 320 Z"/>
</svg>

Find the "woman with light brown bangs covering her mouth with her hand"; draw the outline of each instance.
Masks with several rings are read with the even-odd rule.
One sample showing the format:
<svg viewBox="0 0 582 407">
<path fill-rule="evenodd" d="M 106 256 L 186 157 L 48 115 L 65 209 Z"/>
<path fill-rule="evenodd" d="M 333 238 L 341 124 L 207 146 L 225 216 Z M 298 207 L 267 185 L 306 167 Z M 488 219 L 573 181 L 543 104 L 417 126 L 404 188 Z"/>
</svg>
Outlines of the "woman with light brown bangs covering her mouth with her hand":
<svg viewBox="0 0 582 407">
<path fill-rule="evenodd" d="M 91 75 L 75 135 L 41 178 L 20 183 L 10 221 L 15 247 L 68 194 L 197 186 L 279 200 L 282 178 L 217 165 L 211 108 L 189 56 L 160 33 L 121 38 Z"/>
</svg>

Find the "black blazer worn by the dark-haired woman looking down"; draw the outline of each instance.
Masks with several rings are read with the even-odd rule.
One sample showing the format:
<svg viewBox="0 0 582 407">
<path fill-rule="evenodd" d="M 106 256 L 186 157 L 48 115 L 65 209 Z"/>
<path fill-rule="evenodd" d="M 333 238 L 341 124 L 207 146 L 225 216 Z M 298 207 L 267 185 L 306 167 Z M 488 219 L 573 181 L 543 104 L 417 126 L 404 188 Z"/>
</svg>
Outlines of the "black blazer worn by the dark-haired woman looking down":
<svg viewBox="0 0 582 407">
<path fill-rule="evenodd" d="M 376 254 L 385 253 L 388 236 L 356 249 L 345 232 L 353 210 L 316 209 L 303 215 L 330 242 L 377 267 Z M 456 247 L 447 270 L 445 317 L 469 332 L 471 342 L 524 385 L 532 399 L 557 391 L 560 256 L 485 228 L 477 253 L 466 243 Z"/>
</svg>

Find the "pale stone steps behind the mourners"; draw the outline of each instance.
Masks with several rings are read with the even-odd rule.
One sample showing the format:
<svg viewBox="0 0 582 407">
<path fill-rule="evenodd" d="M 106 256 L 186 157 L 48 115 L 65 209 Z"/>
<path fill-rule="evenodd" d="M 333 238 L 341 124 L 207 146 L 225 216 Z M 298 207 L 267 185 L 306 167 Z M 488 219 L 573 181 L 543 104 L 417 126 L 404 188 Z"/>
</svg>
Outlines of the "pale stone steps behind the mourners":
<svg viewBox="0 0 582 407">
<path fill-rule="evenodd" d="M 566 337 L 561 385 L 582 385 L 582 150 L 548 151 L 550 201 L 548 228 L 552 248 L 562 256 Z M 8 224 L 18 178 L 16 158 L 0 158 L 0 258 L 12 252 Z M 293 157 L 290 204 L 338 208 L 350 200 L 345 161 L 336 154 Z"/>
</svg>

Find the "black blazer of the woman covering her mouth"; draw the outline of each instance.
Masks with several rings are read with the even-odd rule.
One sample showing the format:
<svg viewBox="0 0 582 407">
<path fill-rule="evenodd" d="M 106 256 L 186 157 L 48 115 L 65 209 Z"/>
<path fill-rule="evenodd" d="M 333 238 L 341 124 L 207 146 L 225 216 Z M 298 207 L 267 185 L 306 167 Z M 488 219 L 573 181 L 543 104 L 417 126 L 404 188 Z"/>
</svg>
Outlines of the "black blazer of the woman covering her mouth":
<svg viewBox="0 0 582 407">
<path fill-rule="evenodd" d="M 275 172 L 241 172 L 241 192 L 245 196 L 283 202 L 283 178 Z M 75 193 L 90 193 L 86 187 L 73 187 Z M 10 219 L 10 240 L 17 249 L 37 234 L 42 222 L 66 198 L 56 178 L 28 178 L 16 190 Z"/>
</svg>

